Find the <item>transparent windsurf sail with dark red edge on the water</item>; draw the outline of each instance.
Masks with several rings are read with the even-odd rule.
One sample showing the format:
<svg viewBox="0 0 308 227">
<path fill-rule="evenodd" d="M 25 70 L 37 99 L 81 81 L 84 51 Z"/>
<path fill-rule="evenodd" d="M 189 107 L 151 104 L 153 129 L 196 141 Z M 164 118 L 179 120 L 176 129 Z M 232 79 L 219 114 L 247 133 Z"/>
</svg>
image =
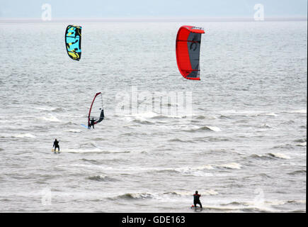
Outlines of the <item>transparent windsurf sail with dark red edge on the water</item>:
<svg viewBox="0 0 308 227">
<path fill-rule="evenodd" d="M 94 124 L 96 124 L 103 121 L 104 117 L 105 116 L 103 111 L 103 95 L 101 94 L 101 92 L 98 92 L 95 94 L 89 110 L 88 126 L 90 125 L 91 119 L 93 119 Z"/>
</svg>

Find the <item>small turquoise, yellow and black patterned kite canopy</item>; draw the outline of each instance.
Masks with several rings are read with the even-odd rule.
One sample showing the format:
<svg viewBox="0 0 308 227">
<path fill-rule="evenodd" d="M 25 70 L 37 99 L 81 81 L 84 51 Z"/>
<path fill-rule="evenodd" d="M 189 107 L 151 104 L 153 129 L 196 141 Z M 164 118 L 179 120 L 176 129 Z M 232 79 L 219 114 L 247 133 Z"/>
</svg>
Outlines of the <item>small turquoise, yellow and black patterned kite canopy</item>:
<svg viewBox="0 0 308 227">
<path fill-rule="evenodd" d="M 67 54 L 72 60 L 80 60 L 81 57 L 81 26 L 67 26 L 65 31 L 65 45 Z"/>
</svg>

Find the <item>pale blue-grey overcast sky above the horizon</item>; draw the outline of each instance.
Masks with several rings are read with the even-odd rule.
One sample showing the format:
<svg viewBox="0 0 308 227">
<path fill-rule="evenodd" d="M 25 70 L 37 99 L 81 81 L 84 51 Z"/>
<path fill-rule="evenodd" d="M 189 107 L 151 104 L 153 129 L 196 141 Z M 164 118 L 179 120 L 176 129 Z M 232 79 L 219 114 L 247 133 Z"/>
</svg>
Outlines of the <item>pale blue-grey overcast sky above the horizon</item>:
<svg viewBox="0 0 308 227">
<path fill-rule="evenodd" d="M 266 17 L 307 17 L 307 0 L 0 0 L 0 18 L 251 17 L 263 4 Z"/>
</svg>

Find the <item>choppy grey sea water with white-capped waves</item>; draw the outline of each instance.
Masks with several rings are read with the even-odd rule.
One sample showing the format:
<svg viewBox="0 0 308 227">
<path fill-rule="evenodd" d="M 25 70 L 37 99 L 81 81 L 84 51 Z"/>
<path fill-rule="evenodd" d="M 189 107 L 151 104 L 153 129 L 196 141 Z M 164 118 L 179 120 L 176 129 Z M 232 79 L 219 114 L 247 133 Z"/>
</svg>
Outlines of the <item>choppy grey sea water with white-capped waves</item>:
<svg viewBox="0 0 308 227">
<path fill-rule="evenodd" d="M 195 190 L 203 212 L 306 212 L 307 21 L 78 24 L 76 62 L 68 23 L 0 23 L 1 212 L 191 212 Z M 178 72 L 182 25 L 205 29 L 200 81 Z M 192 111 L 125 112 L 134 91 Z"/>
</svg>

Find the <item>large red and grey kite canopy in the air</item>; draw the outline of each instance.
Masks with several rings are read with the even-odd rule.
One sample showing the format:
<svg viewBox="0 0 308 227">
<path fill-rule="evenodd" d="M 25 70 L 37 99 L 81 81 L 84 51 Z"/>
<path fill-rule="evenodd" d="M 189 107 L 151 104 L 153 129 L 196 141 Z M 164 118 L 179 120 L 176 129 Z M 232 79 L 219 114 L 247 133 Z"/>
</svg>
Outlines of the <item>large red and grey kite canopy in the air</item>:
<svg viewBox="0 0 308 227">
<path fill-rule="evenodd" d="M 176 62 L 186 79 L 200 80 L 200 43 L 203 28 L 182 26 L 176 35 Z"/>
</svg>

